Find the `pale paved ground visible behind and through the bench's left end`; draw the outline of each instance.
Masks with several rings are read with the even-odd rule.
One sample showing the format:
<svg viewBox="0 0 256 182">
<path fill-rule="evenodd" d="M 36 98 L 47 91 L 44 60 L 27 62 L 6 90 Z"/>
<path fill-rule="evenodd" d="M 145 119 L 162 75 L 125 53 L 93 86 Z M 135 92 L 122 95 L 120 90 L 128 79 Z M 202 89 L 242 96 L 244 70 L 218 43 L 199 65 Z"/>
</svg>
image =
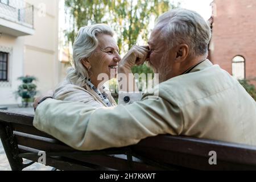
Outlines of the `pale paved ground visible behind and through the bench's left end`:
<svg viewBox="0 0 256 182">
<path fill-rule="evenodd" d="M 28 108 L 22 108 L 19 106 L 9 106 L 8 110 L 12 111 L 19 111 L 20 113 L 34 113 L 34 109 L 32 107 Z M 30 162 L 29 160 L 24 159 L 24 163 Z M 49 171 L 51 170 L 52 167 L 44 166 L 43 164 L 40 163 L 34 163 L 31 166 L 23 169 L 24 171 Z M 5 155 L 5 150 L 3 150 L 2 142 L 0 140 L 0 171 L 10 171 L 11 167 L 9 165 L 8 159 Z"/>
</svg>

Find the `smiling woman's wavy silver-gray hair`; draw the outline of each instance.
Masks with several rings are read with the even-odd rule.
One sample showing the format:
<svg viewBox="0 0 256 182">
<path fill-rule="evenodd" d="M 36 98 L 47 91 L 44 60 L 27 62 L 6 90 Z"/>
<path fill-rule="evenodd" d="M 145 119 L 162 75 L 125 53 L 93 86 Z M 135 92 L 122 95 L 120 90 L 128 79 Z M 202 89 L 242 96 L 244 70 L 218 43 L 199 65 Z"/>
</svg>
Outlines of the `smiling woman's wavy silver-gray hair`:
<svg viewBox="0 0 256 182">
<path fill-rule="evenodd" d="M 90 57 L 98 46 L 97 35 L 113 36 L 114 32 L 107 24 L 93 24 L 81 27 L 73 43 L 72 67 L 67 70 L 67 81 L 77 86 L 84 86 L 89 77 L 82 60 Z"/>
</svg>

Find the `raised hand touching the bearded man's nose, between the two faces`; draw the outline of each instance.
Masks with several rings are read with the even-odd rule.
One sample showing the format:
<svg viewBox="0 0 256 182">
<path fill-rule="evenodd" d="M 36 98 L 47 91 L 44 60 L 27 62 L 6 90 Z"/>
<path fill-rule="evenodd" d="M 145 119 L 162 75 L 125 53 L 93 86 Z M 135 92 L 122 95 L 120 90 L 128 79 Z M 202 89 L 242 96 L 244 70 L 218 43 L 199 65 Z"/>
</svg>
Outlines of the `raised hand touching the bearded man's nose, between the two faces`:
<svg viewBox="0 0 256 182">
<path fill-rule="evenodd" d="M 148 52 L 148 46 L 133 46 L 120 61 L 118 68 L 121 72 L 130 72 L 135 64 L 141 65 L 147 60 Z"/>
</svg>

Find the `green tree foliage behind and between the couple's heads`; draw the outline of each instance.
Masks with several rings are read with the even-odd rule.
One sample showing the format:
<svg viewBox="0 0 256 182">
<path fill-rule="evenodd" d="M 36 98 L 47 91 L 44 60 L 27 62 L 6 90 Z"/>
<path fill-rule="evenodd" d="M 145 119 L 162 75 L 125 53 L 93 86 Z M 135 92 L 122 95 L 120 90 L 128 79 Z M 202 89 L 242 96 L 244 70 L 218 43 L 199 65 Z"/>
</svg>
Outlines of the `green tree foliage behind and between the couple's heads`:
<svg viewBox="0 0 256 182">
<path fill-rule="evenodd" d="M 174 8 L 170 1 L 160 0 L 65 0 L 65 10 L 70 15 L 71 29 L 66 32 L 73 43 L 80 27 L 106 23 L 117 33 L 119 53 L 127 52 L 138 40 L 148 38 L 150 21 Z M 134 67 L 135 73 L 152 73 L 146 65 Z"/>
</svg>

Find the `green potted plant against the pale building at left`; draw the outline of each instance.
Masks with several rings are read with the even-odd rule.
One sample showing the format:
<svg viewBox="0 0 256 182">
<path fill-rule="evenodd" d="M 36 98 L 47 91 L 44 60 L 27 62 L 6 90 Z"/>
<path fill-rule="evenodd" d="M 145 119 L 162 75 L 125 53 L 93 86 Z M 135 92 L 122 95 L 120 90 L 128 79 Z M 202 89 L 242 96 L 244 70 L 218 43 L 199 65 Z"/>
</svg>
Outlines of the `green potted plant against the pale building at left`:
<svg viewBox="0 0 256 182">
<path fill-rule="evenodd" d="M 34 97 L 37 93 L 36 85 L 32 83 L 36 81 L 36 77 L 34 76 L 22 76 L 19 77 L 18 80 L 22 81 L 22 84 L 18 87 L 18 96 L 22 97 L 22 106 L 27 107 L 29 102 L 34 101 Z"/>
</svg>

